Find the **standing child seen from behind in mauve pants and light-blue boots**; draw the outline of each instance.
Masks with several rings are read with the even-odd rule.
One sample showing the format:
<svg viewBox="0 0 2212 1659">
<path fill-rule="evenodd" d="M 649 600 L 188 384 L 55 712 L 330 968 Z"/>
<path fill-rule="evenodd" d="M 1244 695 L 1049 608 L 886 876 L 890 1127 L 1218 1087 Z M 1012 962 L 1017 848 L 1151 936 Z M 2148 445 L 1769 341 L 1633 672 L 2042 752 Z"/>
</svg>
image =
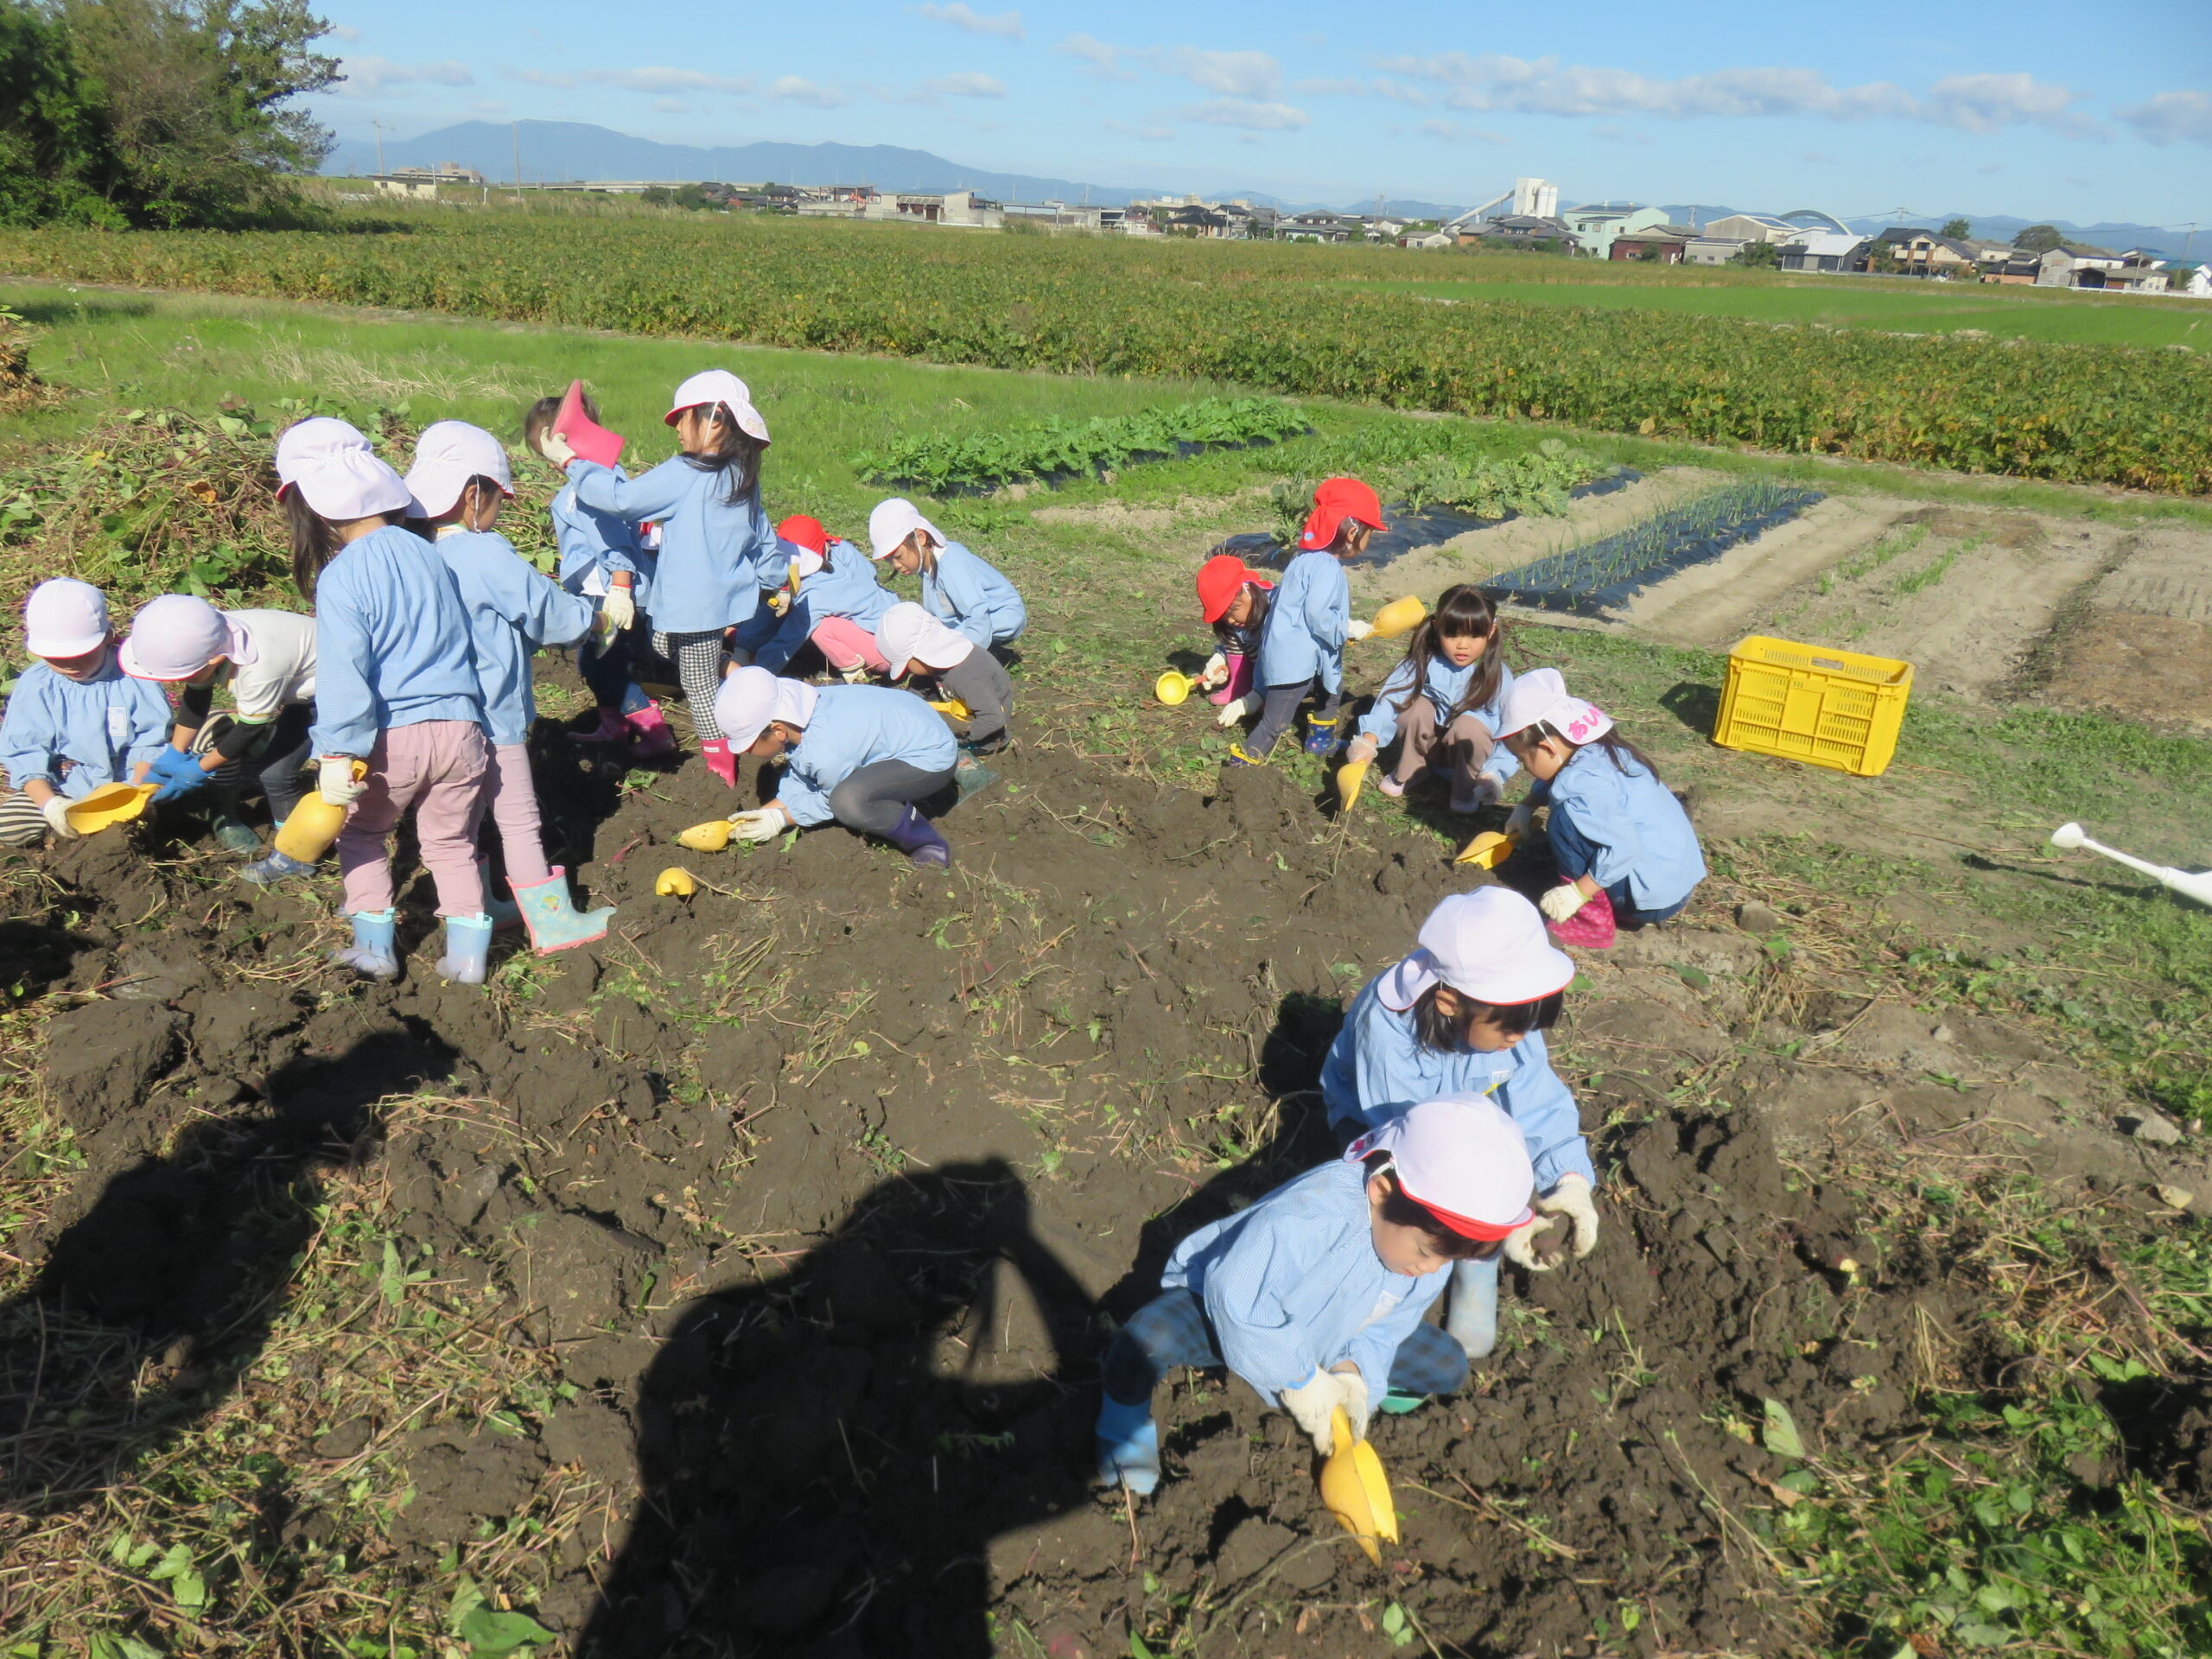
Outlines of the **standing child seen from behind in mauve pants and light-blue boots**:
<svg viewBox="0 0 2212 1659">
<path fill-rule="evenodd" d="M 416 513 L 407 484 L 343 420 L 288 427 L 276 440 L 276 480 L 292 526 L 292 580 L 314 599 L 307 741 L 316 794 L 352 807 L 338 872 L 354 942 L 332 960 L 369 980 L 398 978 L 387 838 L 411 810 L 445 918 L 438 973 L 482 984 L 491 916 L 476 830 L 491 745 L 460 586 L 431 544 L 403 529 Z M 305 869 L 272 849 L 241 874 L 270 883 Z"/>
</svg>

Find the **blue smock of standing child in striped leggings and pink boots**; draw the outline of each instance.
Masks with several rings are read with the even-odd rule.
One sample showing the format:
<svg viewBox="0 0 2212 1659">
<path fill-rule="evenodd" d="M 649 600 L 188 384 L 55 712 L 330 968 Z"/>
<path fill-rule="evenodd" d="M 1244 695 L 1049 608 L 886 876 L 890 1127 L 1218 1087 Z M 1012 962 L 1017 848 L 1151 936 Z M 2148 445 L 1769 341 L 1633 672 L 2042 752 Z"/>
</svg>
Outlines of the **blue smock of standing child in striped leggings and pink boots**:
<svg viewBox="0 0 2212 1659">
<path fill-rule="evenodd" d="M 568 462 L 568 484 L 577 504 L 595 513 L 661 526 L 653 564 L 653 626 L 661 633 L 734 628 L 761 608 L 763 586 L 783 582 L 774 566 L 781 544 L 761 511 L 761 491 L 728 502 L 726 478 L 684 456 L 644 478 L 580 458 Z"/>
</svg>

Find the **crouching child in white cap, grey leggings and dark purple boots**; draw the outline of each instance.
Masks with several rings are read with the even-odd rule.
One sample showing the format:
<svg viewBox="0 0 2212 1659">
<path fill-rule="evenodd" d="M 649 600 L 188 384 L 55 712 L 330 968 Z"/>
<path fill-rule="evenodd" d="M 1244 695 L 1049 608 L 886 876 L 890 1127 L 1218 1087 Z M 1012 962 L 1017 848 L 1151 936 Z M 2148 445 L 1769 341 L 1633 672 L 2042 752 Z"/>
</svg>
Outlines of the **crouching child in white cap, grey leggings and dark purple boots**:
<svg viewBox="0 0 2212 1659">
<path fill-rule="evenodd" d="M 783 761 L 776 796 L 730 816 L 737 841 L 774 841 L 832 818 L 883 836 L 922 867 L 953 860 L 920 812 L 953 781 L 960 748 L 938 712 L 889 686 L 807 686 L 765 668 L 737 668 L 721 684 L 717 717 L 730 741 Z"/>
</svg>

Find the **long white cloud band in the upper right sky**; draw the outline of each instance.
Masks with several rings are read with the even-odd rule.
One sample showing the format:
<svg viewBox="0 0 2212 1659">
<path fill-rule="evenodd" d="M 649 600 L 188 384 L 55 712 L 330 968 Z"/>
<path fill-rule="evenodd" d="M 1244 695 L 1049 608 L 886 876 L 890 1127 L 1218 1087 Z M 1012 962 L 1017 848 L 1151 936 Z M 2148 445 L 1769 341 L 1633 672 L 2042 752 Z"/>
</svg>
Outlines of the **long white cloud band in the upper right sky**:
<svg viewBox="0 0 2212 1659">
<path fill-rule="evenodd" d="M 1891 82 L 1832 86 L 1814 69 L 1717 69 L 1659 80 L 1632 69 L 1562 64 L 1557 58 L 1504 53 L 1436 53 L 1385 58 L 1396 75 L 1438 82 L 1444 102 L 1462 111 L 1520 111 L 1528 115 L 1825 115 L 1838 122 L 1893 117 L 1986 133 L 2033 124 L 2057 133 L 2090 135 L 2095 124 L 2073 104 L 2079 93 L 2033 75 L 1951 75 L 1927 97 Z"/>
</svg>

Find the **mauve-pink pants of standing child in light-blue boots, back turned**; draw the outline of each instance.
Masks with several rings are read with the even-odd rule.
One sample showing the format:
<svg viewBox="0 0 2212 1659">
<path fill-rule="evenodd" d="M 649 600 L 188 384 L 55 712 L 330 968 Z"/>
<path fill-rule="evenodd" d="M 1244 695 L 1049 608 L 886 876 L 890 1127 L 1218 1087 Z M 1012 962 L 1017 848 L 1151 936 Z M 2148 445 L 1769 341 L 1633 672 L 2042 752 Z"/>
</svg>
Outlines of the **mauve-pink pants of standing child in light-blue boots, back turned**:
<svg viewBox="0 0 2212 1659">
<path fill-rule="evenodd" d="M 473 721 L 420 721 L 376 734 L 369 787 L 338 832 L 345 911 L 392 909 L 392 858 L 385 838 L 414 807 L 416 843 L 438 883 L 440 916 L 482 916 L 476 825 L 484 821 L 491 745 Z"/>
</svg>

